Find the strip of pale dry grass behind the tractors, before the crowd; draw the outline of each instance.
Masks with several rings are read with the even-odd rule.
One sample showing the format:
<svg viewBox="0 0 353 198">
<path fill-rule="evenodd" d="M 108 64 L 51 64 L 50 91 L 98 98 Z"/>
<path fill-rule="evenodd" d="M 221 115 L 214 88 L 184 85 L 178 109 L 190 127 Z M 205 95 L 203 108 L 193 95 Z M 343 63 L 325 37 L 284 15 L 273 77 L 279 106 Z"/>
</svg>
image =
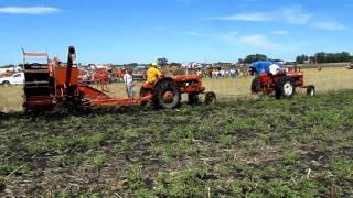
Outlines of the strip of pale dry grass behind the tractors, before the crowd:
<svg viewBox="0 0 353 198">
<path fill-rule="evenodd" d="M 353 72 L 345 68 L 324 68 L 321 72 L 317 69 L 306 69 L 306 82 L 315 85 L 320 92 L 328 90 L 353 89 Z M 204 86 L 207 90 L 215 91 L 218 98 L 249 96 L 249 87 L 253 77 L 242 77 L 236 79 L 204 79 Z M 136 86 L 138 94 L 141 82 Z M 125 97 L 122 84 L 109 85 L 113 96 Z M 0 111 L 21 111 L 22 110 L 22 87 L 0 87 Z"/>
</svg>

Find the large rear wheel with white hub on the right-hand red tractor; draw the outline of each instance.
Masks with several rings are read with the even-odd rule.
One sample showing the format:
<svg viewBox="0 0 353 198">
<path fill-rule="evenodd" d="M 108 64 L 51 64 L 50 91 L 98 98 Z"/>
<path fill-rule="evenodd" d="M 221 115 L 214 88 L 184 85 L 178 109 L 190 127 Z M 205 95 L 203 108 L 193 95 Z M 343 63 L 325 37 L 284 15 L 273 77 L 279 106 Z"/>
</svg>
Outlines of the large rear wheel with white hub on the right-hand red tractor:
<svg viewBox="0 0 353 198">
<path fill-rule="evenodd" d="M 296 94 L 296 86 L 291 77 L 281 76 L 275 85 L 276 98 L 291 98 Z"/>
</svg>

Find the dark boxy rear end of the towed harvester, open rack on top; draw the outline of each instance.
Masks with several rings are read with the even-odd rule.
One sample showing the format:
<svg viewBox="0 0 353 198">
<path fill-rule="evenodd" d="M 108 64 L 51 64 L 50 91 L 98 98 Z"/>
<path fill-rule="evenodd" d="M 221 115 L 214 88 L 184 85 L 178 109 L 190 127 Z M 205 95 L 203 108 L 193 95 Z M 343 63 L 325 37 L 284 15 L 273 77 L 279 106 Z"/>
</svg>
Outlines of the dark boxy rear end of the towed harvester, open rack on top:
<svg viewBox="0 0 353 198">
<path fill-rule="evenodd" d="M 53 65 L 47 53 L 25 53 L 23 50 L 25 111 L 45 110 L 54 107 L 55 86 Z"/>
</svg>

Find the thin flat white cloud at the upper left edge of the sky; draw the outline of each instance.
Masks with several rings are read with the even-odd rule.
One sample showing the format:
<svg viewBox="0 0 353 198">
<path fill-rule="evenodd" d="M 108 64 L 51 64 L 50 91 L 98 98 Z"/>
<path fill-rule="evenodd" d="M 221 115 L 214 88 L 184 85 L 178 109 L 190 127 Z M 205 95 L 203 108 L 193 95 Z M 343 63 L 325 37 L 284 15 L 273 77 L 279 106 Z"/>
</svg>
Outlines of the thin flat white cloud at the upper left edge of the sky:
<svg viewBox="0 0 353 198">
<path fill-rule="evenodd" d="M 50 14 L 58 11 L 53 7 L 0 7 L 0 13 L 8 14 Z"/>
</svg>

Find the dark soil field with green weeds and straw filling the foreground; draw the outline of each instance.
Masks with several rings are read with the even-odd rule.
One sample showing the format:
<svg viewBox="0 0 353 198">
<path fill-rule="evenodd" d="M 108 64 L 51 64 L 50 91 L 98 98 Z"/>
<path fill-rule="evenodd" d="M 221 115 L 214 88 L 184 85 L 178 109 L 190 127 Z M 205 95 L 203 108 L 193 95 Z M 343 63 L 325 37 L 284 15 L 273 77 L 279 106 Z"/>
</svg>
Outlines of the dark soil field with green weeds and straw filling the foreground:
<svg viewBox="0 0 353 198">
<path fill-rule="evenodd" d="M 2 114 L 0 197 L 350 197 L 352 101 Z"/>
</svg>

